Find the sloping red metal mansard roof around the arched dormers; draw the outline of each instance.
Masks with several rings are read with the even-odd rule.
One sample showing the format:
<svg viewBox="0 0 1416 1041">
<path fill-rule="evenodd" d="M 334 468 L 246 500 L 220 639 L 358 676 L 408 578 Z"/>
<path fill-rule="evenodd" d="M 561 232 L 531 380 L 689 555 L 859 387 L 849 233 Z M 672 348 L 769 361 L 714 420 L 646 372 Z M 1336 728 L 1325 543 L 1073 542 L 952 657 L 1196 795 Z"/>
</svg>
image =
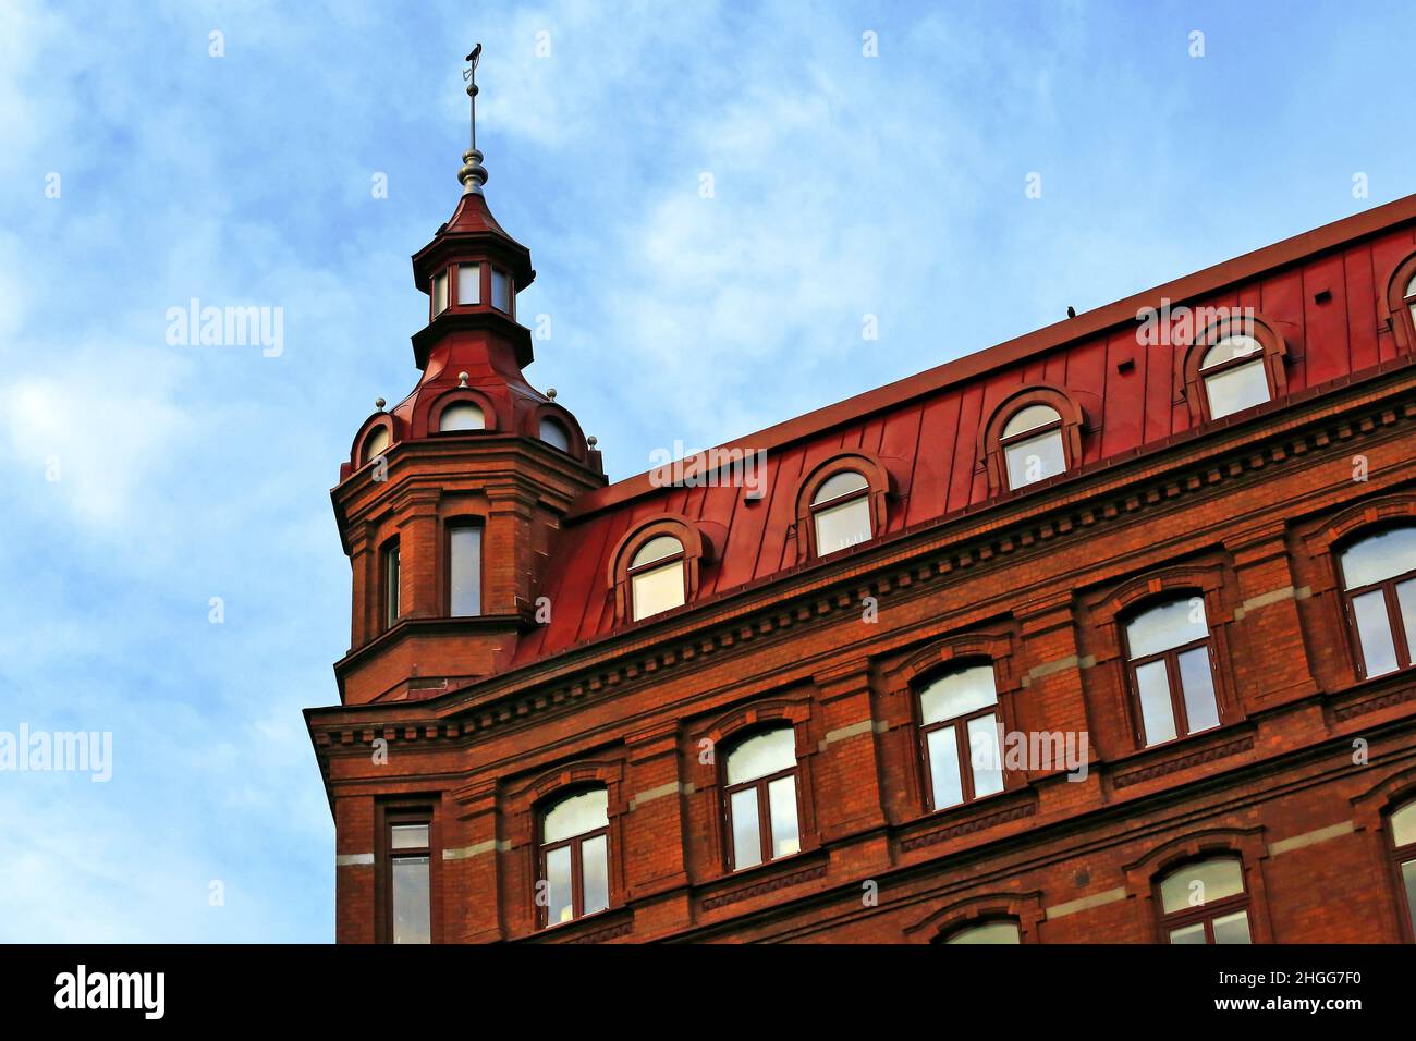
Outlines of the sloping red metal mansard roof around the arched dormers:
<svg viewBox="0 0 1416 1041">
<path fill-rule="evenodd" d="M 1386 327 L 1388 280 L 1416 245 L 1413 227 L 1416 195 L 721 446 L 766 450 L 759 503 L 745 501 L 733 486 L 656 487 L 649 473 L 589 493 L 554 540 L 542 586 L 552 619 L 520 642 L 515 663 L 609 633 L 609 554 L 627 531 L 664 514 L 714 523 L 718 537 L 698 601 L 794 567 L 799 482 L 840 452 L 864 449 L 898 460 L 892 467 L 908 474 L 879 534 L 978 506 L 988 499 L 977 463 L 980 425 L 1020 385 L 1046 381 L 1086 406 L 1083 466 L 1182 433 L 1194 425 L 1177 385 L 1175 354 L 1184 346 L 1143 348 L 1136 337 L 1137 313 L 1163 299 L 1253 307 L 1287 341 L 1290 395 L 1389 361 L 1396 343 Z M 1331 296 L 1318 302 L 1324 290 Z M 1124 372 L 1123 358 L 1134 360 Z"/>
</svg>

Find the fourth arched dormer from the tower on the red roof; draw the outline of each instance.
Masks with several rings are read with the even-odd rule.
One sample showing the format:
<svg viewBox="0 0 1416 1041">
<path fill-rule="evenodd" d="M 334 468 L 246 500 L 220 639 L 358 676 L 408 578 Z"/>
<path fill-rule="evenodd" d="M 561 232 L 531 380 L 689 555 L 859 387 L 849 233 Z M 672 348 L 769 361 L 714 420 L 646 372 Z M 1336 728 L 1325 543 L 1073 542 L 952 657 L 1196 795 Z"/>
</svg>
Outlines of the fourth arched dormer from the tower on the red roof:
<svg viewBox="0 0 1416 1041">
<path fill-rule="evenodd" d="M 1256 408 L 1289 392 L 1283 337 L 1253 314 L 1212 322 L 1180 354 L 1185 399 L 1199 422 Z"/>
</svg>

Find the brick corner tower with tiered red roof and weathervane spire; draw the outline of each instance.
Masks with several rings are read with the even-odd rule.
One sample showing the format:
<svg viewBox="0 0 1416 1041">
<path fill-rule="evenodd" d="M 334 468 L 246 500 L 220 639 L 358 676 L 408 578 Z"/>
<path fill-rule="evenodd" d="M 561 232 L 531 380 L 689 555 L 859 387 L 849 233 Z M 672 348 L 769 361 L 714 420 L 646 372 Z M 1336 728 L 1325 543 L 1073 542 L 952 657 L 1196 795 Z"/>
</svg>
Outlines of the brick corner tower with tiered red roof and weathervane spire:
<svg viewBox="0 0 1416 1041">
<path fill-rule="evenodd" d="M 462 198 L 412 258 L 429 305 L 412 337 L 421 375 L 391 411 L 375 402 L 330 493 L 353 569 L 350 653 L 334 666 L 346 704 L 432 697 L 501 669 L 537 625 L 561 518 L 605 483 L 575 416 L 523 372 L 532 350 L 517 293 L 535 269 L 483 191 L 480 54 L 463 74 Z"/>
</svg>

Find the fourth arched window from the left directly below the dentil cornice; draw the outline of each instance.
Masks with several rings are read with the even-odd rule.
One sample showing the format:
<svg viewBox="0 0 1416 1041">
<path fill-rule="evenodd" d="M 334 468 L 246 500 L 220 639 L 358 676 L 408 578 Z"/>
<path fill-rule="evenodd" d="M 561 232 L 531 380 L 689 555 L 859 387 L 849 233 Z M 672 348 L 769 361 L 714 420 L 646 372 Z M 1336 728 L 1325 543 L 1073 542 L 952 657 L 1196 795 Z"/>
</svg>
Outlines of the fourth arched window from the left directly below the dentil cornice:
<svg viewBox="0 0 1416 1041">
<path fill-rule="evenodd" d="M 1126 656 L 1141 741 L 1158 745 L 1219 725 L 1205 601 L 1187 596 L 1126 623 Z"/>
</svg>

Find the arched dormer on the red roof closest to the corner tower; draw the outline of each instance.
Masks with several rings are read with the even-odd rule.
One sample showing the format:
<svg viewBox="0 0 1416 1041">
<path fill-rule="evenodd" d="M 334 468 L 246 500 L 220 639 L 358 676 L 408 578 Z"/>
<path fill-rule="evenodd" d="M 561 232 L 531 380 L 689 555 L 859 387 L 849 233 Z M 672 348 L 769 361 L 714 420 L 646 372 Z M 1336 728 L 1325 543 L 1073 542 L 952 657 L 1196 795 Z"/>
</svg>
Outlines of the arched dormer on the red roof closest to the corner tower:
<svg viewBox="0 0 1416 1041">
<path fill-rule="evenodd" d="M 639 622 L 688 603 L 709 555 L 708 540 L 687 517 L 668 514 L 624 535 L 610 554 L 615 616 Z"/>
</svg>

